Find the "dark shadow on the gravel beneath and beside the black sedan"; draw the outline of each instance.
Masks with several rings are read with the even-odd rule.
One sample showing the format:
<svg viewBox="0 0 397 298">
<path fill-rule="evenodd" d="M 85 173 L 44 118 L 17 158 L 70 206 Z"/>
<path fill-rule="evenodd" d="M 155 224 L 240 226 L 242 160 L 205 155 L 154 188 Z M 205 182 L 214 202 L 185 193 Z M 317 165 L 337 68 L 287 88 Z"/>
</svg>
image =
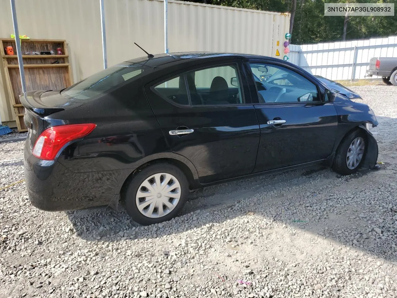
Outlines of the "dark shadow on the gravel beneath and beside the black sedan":
<svg viewBox="0 0 397 298">
<path fill-rule="evenodd" d="M 384 165 L 376 175 L 383 171 Z M 372 172 L 339 177 L 329 169 L 306 168 L 213 186 L 200 197 L 193 195 L 176 219 L 152 226 L 133 222 L 122 205 L 119 211 L 98 207 L 67 212 L 67 216 L 79 237 L 117 242 L 178 234 L 248 213 L 263 217 L 267 223 L 285 223 L 395 260 L 397 233 L 390 227 L 397 216 L 397 205 L 382 208 L 384 202 L 376 200 L 376 195 L 381 195 L 386 186 L 376 181 L 378 176 L 368 175 Z M 370 188 L 368 184 L 372 184 Z M 362 192 L 366 198 L 360 195 Z"/>
</svg>

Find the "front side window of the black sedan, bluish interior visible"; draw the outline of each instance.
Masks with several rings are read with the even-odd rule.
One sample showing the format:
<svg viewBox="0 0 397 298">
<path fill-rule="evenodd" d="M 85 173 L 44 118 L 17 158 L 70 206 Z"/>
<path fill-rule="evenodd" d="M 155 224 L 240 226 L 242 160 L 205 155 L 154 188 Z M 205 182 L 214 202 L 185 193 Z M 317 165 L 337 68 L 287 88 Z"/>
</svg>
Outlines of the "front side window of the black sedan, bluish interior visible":
<svg viewBox="0 0 397 298">
<path fill-rule="evenodd" d="M 251 63 L 260 103 L 319 101 L 317 87 L 302 75 L 278 65 Z"/>
</svg>

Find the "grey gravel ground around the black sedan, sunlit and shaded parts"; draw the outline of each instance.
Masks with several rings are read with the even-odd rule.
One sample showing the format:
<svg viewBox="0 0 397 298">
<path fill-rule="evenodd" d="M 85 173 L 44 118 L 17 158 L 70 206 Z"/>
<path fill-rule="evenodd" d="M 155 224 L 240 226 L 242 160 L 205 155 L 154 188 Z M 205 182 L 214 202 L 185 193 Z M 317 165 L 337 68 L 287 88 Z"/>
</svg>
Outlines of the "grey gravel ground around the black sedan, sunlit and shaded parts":
<svg viewBox="0 0 397 298">
<path fill-rule="evenodd" d="M 352 87 L 380 125 L 379 170 L 309 168 L 207 188 L 169 222 L 48 213 L 0 191 L 1 297 L 396 297 L 397 87 Z M 1 187 L 23 142 L 0 144 Z M 19 159 L 17 161 L 9 161 Z"/>
</svg>

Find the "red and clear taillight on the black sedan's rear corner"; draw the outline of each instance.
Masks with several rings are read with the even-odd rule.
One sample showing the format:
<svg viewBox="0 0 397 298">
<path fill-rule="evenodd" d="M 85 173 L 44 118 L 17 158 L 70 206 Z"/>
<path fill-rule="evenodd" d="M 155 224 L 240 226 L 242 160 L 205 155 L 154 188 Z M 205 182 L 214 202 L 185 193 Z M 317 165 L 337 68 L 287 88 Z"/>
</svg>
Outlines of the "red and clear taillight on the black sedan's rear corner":
<svg viewBox="0 0 397 298">
<path fill-rule="evenodd" d="M 33 155 L 39 159 L 53 161 L 58 152 L 70 141 L 88 135 L 96 124 L 68 124 L 44 130 L 33 147 Z"/>
</svg>

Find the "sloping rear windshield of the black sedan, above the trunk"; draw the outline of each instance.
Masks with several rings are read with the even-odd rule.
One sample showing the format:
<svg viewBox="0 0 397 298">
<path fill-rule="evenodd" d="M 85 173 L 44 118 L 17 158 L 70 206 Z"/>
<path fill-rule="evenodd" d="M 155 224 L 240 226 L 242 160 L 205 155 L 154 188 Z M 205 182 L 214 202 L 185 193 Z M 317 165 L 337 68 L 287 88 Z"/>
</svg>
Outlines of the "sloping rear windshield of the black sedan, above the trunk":
<svg viewBox="0 0 397 298">
<path fill-rule="evenodd" d="M 88 100 L 125 81 L 134 81 L 149 69 L 142 64 L 124 62 L 83 79 L 83 81 L 62 90 L 61 94 L 73 99 Z"/>
</svg>

